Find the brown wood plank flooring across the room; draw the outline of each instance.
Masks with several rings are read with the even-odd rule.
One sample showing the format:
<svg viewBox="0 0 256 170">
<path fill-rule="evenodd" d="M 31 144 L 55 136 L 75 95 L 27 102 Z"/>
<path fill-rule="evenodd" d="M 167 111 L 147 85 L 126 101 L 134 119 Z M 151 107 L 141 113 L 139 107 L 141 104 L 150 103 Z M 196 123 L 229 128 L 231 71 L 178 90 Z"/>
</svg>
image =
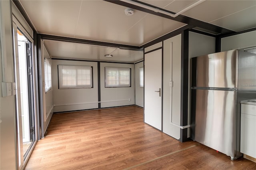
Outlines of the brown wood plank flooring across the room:
<svg viewBox="0 0 256 170">
<path fill-rule="evenodd" d="M 54 114 L 26 170 L 246 169 L 256 163 L 181 143 L 143 122 L 135 106 Z"/>
</svg>

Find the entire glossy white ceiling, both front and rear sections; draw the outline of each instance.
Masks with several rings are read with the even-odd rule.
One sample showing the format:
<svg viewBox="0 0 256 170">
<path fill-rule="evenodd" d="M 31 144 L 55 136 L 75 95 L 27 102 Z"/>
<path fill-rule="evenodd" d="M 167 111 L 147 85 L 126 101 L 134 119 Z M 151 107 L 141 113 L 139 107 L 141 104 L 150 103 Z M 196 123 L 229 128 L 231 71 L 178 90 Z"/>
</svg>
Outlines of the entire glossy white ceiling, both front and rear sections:
<svg viewBox="0 0 256 170">
<path fill-rule="evenodd" d="M 196 2 L 141 1 L 172 12 Z M 126 16 L 126 7 L 102 0 L 20 0 L 20 3 L 38 33 L 70 38 L 141 46 L 186 25 L 138 10 L 133 16 Z M 238 32 L 256 27 L 256 0 L 206 0 L 182 15 Z M 106 59 L 103 56 L 113 48 L 56 41 L 45 41 L 45 45 L 52 57 L 123 62 L 143 59 L 143 53 L 138 51 L 118 49 L 113 54 L 115 58 Z"/>
</svg>

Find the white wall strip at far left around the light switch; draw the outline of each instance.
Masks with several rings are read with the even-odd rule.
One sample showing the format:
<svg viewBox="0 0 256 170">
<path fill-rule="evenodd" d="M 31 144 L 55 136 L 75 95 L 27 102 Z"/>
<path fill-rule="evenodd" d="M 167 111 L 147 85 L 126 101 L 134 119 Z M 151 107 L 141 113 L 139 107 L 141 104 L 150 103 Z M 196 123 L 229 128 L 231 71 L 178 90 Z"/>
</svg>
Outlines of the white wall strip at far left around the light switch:
<svg viewBox="0 0 256 170">
<path fill-rule="evenodd" d="M 12 2 L 0 1 L 1 82 L 14 82 L 10 3 Z M 16 169 L 15 96 L 2 97 L 1 89 L 0 84 L 0 169 L 14 170 Z"/>
</svg>

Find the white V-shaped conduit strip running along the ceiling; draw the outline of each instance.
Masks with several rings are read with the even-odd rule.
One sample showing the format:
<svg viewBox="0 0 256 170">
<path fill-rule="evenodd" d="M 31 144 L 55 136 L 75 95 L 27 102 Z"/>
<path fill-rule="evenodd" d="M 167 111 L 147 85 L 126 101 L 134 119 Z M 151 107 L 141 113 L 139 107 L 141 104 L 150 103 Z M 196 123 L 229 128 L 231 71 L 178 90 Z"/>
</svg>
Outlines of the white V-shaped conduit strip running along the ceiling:
<svg viewBox="0 0 256 170">
<path fill-rule="evenodd" d="M 190 6 L 187 6 L 186 8 L 184 8 L 183 10 L 180 10 L 179 12 L 177 12 L 176 14 L 172 14 L 170 12 L 167 12 L 167 11 L 164 11 L 162 9 L 158 9 L 158 8 L 154 8 L 152 6 L 148 6 L 146 4 L 141 4 L 140 2 L 136 2 L 136 1 L 132 1 L 132 0 L 120 0 L 120 1 L 123 1 L 123 2 L 126 2 L 128 4 L 132 4 L 132 5 L 136 5 L 136 6 L 139 6 L 139 7 L 142 7 L 142 8 L 146 8 L 148 10 L 152 10 L 154 12 L 159 12 L 161 14 L 166 14 L 168 16 L 171 16 L 173 18 L 175 18 L 176 16 L 182 14 L 183 12 L 193 8 L 194 6 L 197 6 L 198 4 L 201 4 L 202 2 L 204 2 L 205 0 L 198 0 L 196 1 L 194 4 L 191 4 Z"/>
</svg>

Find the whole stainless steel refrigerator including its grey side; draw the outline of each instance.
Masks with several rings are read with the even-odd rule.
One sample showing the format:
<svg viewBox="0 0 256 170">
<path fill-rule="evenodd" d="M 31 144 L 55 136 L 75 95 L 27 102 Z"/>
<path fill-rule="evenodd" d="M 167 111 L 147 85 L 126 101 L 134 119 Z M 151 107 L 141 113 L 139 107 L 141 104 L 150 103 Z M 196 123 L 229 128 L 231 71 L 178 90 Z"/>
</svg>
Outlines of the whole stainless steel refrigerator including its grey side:
<svg viewBox="0 0 256 170">
<path fill-rule="evenodd" d="M 256 98 L 256 54 L 230 50 L 191 59 L 191 138 L 236 159 L 240 101 Z"/>
</svg>

